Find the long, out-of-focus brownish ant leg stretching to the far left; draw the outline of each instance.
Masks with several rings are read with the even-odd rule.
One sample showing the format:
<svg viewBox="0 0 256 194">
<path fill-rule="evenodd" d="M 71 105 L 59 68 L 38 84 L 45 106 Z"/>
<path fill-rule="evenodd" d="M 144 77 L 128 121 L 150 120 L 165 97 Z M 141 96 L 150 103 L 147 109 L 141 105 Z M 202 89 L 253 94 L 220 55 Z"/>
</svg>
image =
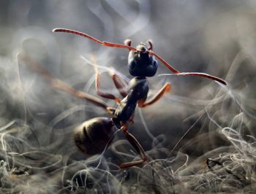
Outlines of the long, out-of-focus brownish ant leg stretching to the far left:
<svg viewBox="0 0 256 194">
<path fill-rule="evenodd" d="M 29 69 L 36 71 L 38 74 L 42 75 L 42 77 L 47 79 L 48 82 L 50 82 L 50 84 L 53 86 L 53 88 L 57 88 L 58 90 L 69 93 L 77 98 L 90 101 L 91 103 L 105 109 L 105 111 L 110 113 L 110 115 L 113 115 L 114 109 L 108 107 L 108 105 L 105 104 L 104 101 L 102 101 L 99 98 L 96 98 L 95 96 L 91 96 L 89 93 L 83 93 L 80 90 L 75 90 L 75 88 L 70 87 L 69 85 L 67 85 L 67 83 L 62 82 L 60 79 L 57 79 L 56 77 L 53 77 L 53 75 L 50 74 L 50 72 L 47 69 L 45 69 L 39 63 L 37 63 L 37 61 L 34 61 L 34 59 L 29 57 L 29 55 L 26 55 L 26 53 L 20 53 L 18 55 L 18 58 L 21 58 L 26 63 L 26 66 L 29 67 Z"/>
</svg>

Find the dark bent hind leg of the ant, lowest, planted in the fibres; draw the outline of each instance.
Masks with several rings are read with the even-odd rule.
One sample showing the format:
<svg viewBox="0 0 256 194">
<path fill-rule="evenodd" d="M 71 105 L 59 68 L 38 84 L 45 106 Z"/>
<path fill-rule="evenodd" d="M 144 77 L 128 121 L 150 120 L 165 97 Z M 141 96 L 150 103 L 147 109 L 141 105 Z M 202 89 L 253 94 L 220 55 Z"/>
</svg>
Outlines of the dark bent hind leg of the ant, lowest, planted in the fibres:
<svg viewBox="0 0 256 194">
<path fill-rule="evenodd" d="M 142 160 L 132 161 L 129 163 L 121 163 L 121 165 L 119 166 L 120 168 L 129 168 L 132 166 L 137 166 L 141 163 L 146 162 L 147 160 L 146 152 L 143 150 L 143 147 L 140 145 L 139 141 L 135 138 L 135 136 L 132 136 L 132 134 L 127 131 L 127 128 L 128 128 L 127 124 L 124 124 L 121 127 L 121 131 L 123 131 L 129 143 L 132 144 L 135 150 L 140 154 Z"/>
</svg>

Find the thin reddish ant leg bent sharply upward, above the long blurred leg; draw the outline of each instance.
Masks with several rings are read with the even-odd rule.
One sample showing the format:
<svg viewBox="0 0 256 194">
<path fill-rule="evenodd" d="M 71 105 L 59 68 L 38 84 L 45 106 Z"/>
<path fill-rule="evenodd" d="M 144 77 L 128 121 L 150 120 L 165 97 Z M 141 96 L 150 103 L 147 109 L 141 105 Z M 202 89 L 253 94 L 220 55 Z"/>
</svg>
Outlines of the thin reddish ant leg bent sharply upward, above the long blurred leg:
<svg viewBox="0 0 256 194">
<path fill-rule="evenodd" d="M 99 71 L 98 71 L 98 68 L 97 68 L 97 62 L 96 62 L 96 59 L 93 56 L 91 57 L 91 61 L 93 61 L 93 63 L 94 63 L 94 71 L 95 71 L 95 74 L 96 74 L 95 88 L 97 90 L 97 95 L 102 96 L 103 98 L 112 99 L 112 100 L 116 101 L 117 103 L 119 103 L 121 101 L 121 99 L 117 98 L 116 96 L 114 96 L 111 93 L 103 93 L 102 91 L 99 90 L 100 74 L 99 74 Z"/>
</svg>

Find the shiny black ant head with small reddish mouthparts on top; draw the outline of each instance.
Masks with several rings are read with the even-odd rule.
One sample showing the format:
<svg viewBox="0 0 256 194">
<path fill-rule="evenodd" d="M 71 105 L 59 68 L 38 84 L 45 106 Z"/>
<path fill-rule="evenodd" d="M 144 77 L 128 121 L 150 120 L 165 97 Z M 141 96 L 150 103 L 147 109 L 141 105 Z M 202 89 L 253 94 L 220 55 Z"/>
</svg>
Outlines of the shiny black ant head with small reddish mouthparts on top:
<svg viewBox="0 0 256 194">
<path fill-rule="evenodd" d="M 124 44 L 131 45 L 131 40 L 126 40 Z M 146 44 L 140 43 L 136 50 L 130 50 L 128 57 L 129 74 L 134 77 L 152 77 L 157 73 L 158 62 L 149 52 L 152 50 L 152 42 Z"/>
</svg>

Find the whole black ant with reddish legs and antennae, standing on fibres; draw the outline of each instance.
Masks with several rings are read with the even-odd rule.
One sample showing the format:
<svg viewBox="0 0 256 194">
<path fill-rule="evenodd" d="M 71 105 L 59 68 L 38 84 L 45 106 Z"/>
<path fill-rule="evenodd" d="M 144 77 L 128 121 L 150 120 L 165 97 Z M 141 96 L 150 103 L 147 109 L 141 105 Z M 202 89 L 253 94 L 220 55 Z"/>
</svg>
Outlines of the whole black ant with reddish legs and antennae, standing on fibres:
<svg viewBox="0 0 256 194">
<path fill-rule="evenodd" d="M 124 44 L 116 44 L 112 42 L 102 42 L 98 39 L 95 39 L 93 36 L 89 36 L 88 34 L 64 28 L 53 29 L 53 32 L 76 34 L 91 39 L 92 41 L 97 42 L 102 46 L 125 48 L 129 50 L 129 74 L 131 74 L 134 78 L 132 78 L 129 84 L 126 85 L 122 81 L 121 77 L 118 77 L 114 73 L 111 76 L 118 92 L 123 97 L 122 99 L 114 96 L 111 93 L 103 93 L 100 91 L 100 75 L 97 72 L 97 66 L 94 65 L 96 71 L 95 83 L 97 95 L 116 101 L 116 108 L 108 107 L 107 104 L 102 101 L 102 99 L 91 96 L 89 93 L 83 93 L 82 91 L 71 88 L 69 85 L 62 82 L 61 80 L 54 78 L 49 71 L 42 68 L 42 66 L 29 58 L 29 56 L 22 55 L 23 60 L 27 62 L 29 68 L 37 71 L 39 74 L 42 74 L 43 77 L 51 82 L 53 87 L 58 88 L 59 90 L 63 90 L 64 92 L 69 93 L 72 96 L 91 101 L 91 103 L 102 107 L 103 109 L 105 109 L 106 112 L 111 115 L 111 117 L 95 117 L 91 120 L 87 120 L 86 122 L 84 122 L 82 125 L 75 129 L 74 140 L 76 146 L 82 152 L 85 152 L 89 155 L 99 154 L 103 152 L 103 150 L 105 150 L 105 147 L 108 147 L 113 139 L 115 129 L 118 128 L 124 133 L 129 143 L 132 144 L 132 146 L 141 156 L 140 160 L 135 160 L 128 163 L 121 163 L 121 165 L 119 166 L 120 168 L 138 166 L 141 163 L 146 162 L 147 160 L 146 152 L 143 150 L 143 147 L 140 145 L 139 141 L 135 138 L 135 136 L 128 132 L 128 122 L 133 123 L 133 116 L 137 106 L 150 106 L 151 104 L 154 104 L 156 101 L 158 101 L 159 98 L 161 98 L 165 93 L 170 91 L 170 83 L 167 82 L 153 98 L 146 101 L 149 90 L 146 77 L 153 77 L 156 74 L 158 67 L 157 60 L 163 63 L 168 69 L 170 69 L 170 71 L 173 71 L 175 75 L 206 77 L 208 79 L 213 79 L 217 82 L 220 82 L 223 85 L 227 85 L 227 83 L 223 79 L 220 79 L 219 77 L 214 77 L 210 74 L 177 71 L 173 68 L 173 66 L 170 66 L 169 63 L 167 63 L 163 58 L 161 58 L 159 55 L 152 51 L 153 44 L 151 41 L 148 41 L 148 47 L 146 47 L 146 44 L 143 43 L 138 44 L 137 47 L 132 47 L 132 41 L 130 39 L 126 39 L 124 41 Z M 124 90 L 124 88 L 128 88 L 128 90 Z"/>
</svg>

